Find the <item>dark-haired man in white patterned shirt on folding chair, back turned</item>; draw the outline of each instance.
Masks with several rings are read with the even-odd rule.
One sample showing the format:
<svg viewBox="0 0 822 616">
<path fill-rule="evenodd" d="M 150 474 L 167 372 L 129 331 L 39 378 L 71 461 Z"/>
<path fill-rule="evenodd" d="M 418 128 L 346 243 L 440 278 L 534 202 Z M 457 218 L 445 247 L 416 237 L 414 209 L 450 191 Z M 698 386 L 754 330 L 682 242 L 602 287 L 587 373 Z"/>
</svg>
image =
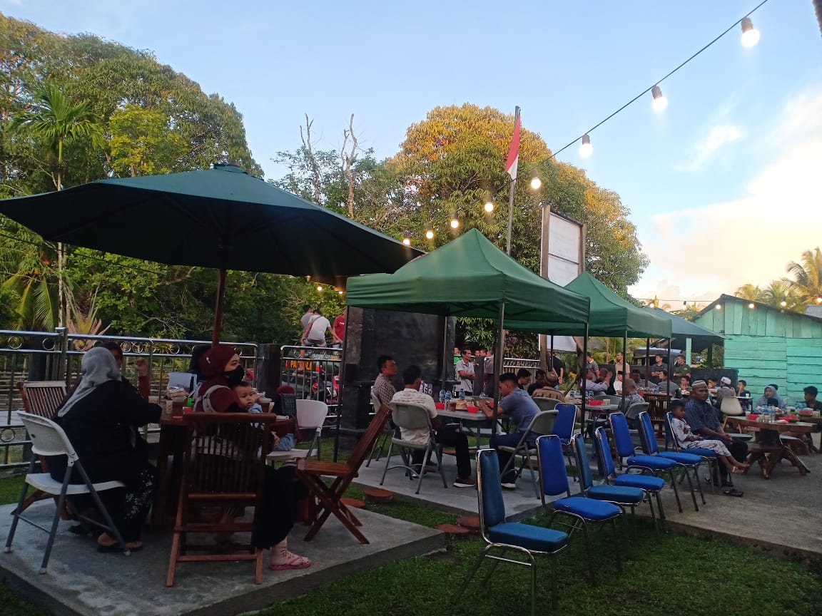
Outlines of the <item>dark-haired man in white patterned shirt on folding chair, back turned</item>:
<svg viewBox="0 0 822 616">
<path fill-rule="evenodd" d="M 446 445 L 446 447 L 453 447 L 455 449 L 457 458 L 457 478 L 454 481 L 455 488 L 473 488 L 476 482 L 473 480 L 471 474 L 471 456 L 468 448 L 468 437 L 459 431 L 459 426 L 444 426 L 440 418 L 436 415 L 436 404 L 434 398 L 427 393 L 419 391 L 422 379 L 423 370 L 420 370 L 418 365 L 409 365 L 403 370 L 403 383 L 405 388 L 394 394 L 391 402 L 413 402 L 413 404 L 421 404 L 428 411 L 428 416 L 431 417 L 432 425 L 436 430 L 436 442 L 438 444 Z M 407 430 L 400 426 L 400 436 L 403 440 L 409 440 L 412 443 L 427 443 L 428 430 Z M 425 452 L 422 449 L 413 450 L 413 465 L 420 469 L 423 466 L 423 456 Z M 420 472 L 422 472 L 420 470 Z"/>
</svg>

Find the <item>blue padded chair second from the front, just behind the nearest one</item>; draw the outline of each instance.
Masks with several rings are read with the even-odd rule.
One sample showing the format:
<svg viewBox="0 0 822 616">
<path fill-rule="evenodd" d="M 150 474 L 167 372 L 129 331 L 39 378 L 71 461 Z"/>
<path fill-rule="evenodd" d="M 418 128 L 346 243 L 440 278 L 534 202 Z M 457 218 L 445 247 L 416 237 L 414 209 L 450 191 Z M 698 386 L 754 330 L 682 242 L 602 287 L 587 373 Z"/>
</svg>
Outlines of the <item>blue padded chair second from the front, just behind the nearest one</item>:
<svg viewBox="0 0 822 616">
<path fill-rule="evenodd" d="M 593 572 L 593 559 L 591 558 L 591 545 L 588 536 L 589 522 L 602 524 L 611 523 L 613 532 L 614 549 L 617 552 L 617 567 L 622 568 L 617 540 L 617 517 L 622 515 L 622 509 L 613 503 L 606 503 L 602 500 L 586 499 L 584 496 L 571 496 L 566 476 L 565 461 L 562 457 L 562 443 L 556 434 L 540 436 L 537 439 L 537 457 L 539 460 L 539 483 L 542 487 L 540 496 L 543 499 L 543 507 L 548 503 L 545 496 L 558 496 L 567 494 L 565 499 L 557 499 L 551 504 L 553 511 L 549 524 L 553 522 L 557 513 L 570 517 L 572 522 L 561 522 L 570 527 L 569 535 L 576 529 L 581 528 L 585 538 L 585 551 L 588 553 L 588 568 L 591 573 L 591 583 L 596 584 L 597 578 Z"/>
</svg>

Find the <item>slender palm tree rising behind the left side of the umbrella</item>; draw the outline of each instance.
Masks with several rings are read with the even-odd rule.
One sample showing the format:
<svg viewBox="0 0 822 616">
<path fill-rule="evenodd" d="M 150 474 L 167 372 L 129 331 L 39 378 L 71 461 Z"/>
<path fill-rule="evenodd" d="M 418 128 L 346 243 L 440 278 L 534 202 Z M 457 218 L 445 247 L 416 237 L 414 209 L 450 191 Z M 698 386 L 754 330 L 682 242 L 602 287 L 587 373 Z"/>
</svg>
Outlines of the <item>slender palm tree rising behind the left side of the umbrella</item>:
<svg viewBox="0 0 822 616">
<path fill-rule="evenodd" d="M 67 141 L 85 139 L 93 147 L 104 145 L 103 130 L 91 113 L 89 104 L 72 104 L 57 85 L 45 83 L 35 91 L 32 108 L 12 118 L 13 132 L 25 133 L 42 141 L 56 159 L 52 181 L 59 191 L 62 188 L 62 146 Z M 58 244 L 58 322 L 62 327 L 66 322 L 66 290 L 63 280 L 65 252 Z"/>
</svg>

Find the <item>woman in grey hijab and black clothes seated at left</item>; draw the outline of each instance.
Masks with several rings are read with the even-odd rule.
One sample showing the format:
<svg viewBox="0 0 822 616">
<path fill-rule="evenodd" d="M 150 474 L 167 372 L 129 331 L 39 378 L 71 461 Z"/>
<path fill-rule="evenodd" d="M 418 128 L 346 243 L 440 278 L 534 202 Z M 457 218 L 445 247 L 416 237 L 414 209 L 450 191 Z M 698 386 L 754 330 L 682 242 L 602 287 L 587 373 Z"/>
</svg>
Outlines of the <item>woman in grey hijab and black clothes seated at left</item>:
<svg viewBox="0 0 822 616">
<path fill-rule="evenodd" d="M 58 423 L 65 430 L 90 480 L 122 481 L 122 490 L 100 494 L 114 524 L 132 551 L 141 549 L 145 517 L 151 508 L 155 487 L 155 467 L 145 456 L 145 443 L 137 427 L 159 421 L 156 404 L 145 402 L 140 393 L 122 379 L 117 362 L 108 349 L 97 347 L 85 353 L 82 380 L 72 397 L 58 411 Z M 142 446 L 141 446 L 142 445 Z M 49 472 L 58 481 L 66 474 L 66 457 L 49 461 Z M 73 483 L 82 483 L 72 476 Z M 108 533 L 97 539 L 98 551 L 119 551 Z"/>
</svg>

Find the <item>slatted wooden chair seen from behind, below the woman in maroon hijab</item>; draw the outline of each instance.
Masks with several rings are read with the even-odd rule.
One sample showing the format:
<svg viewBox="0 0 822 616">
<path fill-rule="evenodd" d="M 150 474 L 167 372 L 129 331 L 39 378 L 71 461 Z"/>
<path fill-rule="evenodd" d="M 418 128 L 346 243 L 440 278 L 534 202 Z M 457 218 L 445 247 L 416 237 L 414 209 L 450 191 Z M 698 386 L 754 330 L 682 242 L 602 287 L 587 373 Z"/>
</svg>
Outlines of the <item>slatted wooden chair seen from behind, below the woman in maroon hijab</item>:
<svg viewBox="0 0 822 616">
<path fill-rule="evenodd" d="M 261 584 L 262 550 L 256 549 L 250 540 L 247 545 L 238 545 L 241 551 L 215 553 L 214 543 L 189 544 L 188 533 L 253 531 L 266 478 L 265 456 L 261 452 L 266 451 L 268 434 L 277 417 L 266 413 L 189 413 L 182 421 L 186 425 L 186 444 L 166 586 L 173 586 L 177 563 L 228 560 L 255 561 L 254 582 Z M 192 509 L 204 505 L 222 508 L 222 519 L 198 522 Z M 235 521 L 227 515 L 229 507 L 254 507 L 253 521 Z"/>
</svg>

